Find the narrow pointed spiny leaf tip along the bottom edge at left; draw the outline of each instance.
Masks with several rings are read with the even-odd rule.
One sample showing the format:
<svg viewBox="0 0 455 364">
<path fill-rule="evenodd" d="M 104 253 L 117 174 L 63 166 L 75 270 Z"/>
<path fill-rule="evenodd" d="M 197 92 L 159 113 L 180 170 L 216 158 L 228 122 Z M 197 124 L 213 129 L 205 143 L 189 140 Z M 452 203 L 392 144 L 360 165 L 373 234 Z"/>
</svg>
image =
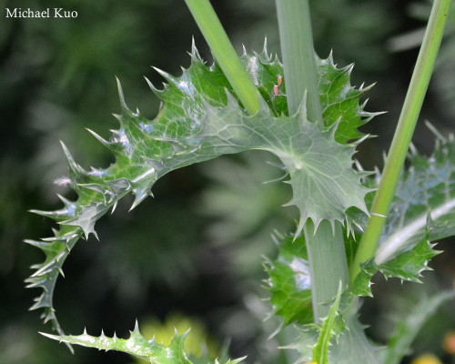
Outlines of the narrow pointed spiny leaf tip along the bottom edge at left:
<svg viewBox="0 0 455 364">
<path fill-rule="evenodd" d="M 137 322 L 135 329 L 130 331 L 131 335 L 128 339 L 119 339 L 116 335 L 108 338 L 103 332 L 99 337 L 94 337 L 88 335 L 86 331 L 79 336 L 41 334 L 49 339 L 87 348 L 122 351 L 137 358 L 149 360 L 152 364 L 192 364 L 184 350 L 184 341 L 188 332 L 183 335 L 178 335 L 176 332 L 168 347 L 158 344 L 155 339 L 144 338 L 139 332 Z M 228 360 L 226 364 L 237 364 L 243 359 Z"/>
</svg>

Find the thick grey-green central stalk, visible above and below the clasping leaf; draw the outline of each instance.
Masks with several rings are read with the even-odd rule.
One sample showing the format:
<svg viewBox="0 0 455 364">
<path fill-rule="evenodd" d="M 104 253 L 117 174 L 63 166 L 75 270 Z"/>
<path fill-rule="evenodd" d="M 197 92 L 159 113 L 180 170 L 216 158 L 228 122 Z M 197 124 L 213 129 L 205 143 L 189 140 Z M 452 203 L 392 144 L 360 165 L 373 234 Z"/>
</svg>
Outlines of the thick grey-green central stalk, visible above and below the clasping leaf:
<svg viewBox="0 0 455 364">
<path fill-rule="evenodd" d="M 308 0 L 277 0 L 276 5 L 289 115 L 298 111 L 306 96 L 308 120 L 322 125 Z M 319 322 L 329 313 L 329 307 L 321 305 L 337 295 L 339 280 L 343 286 L 349 281 L 343 233 L 339 223 L 332 228 L 328 221 L 322 221 L 315 231 L 310 220 L 304 232 L 314 319 Z"/>
</svg>

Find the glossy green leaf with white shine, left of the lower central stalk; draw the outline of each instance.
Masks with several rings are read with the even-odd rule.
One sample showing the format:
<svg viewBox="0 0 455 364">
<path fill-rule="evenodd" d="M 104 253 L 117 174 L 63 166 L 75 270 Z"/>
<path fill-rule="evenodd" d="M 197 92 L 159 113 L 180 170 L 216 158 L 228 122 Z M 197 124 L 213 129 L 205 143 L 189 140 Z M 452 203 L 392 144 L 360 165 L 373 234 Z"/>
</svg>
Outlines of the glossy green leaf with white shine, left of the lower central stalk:
<svg viewBox="0 0 455 364">
<path fill-rule="evenodd" d="M 280 316 L 284 325 L 311 323 L 311 278 L 305 238 L 302 234 L 294 241 L 293 237 L 278 233 L 274 238 L 278 245 L 278 258 L 265 264 L 273 314 Z"/>
</svg>

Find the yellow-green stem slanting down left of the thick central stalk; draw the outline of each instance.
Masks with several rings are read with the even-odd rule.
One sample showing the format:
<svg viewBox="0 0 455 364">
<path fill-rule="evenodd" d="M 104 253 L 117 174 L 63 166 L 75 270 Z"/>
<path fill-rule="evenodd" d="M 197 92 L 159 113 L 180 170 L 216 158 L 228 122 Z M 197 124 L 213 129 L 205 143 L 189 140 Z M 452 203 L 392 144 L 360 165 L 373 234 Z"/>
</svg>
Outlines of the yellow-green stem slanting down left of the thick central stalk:
<svg viewBox="0 0 455 364">
<path fill-rule="evenodd" d="M 258 89 L 240 62 L 236 50 L 227 38 L 217 14 L 208 0 L 185 0 L 213 56 L 241 103 L 250 115 L 259 110 Z"/>
</svg>

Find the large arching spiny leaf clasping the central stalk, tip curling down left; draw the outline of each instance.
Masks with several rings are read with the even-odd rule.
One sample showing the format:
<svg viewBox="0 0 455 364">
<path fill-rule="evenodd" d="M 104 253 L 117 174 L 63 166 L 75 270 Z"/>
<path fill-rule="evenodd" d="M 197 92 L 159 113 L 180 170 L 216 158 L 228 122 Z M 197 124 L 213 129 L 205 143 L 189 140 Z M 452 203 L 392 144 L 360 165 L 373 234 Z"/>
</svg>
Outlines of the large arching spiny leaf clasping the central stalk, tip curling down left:
<svg viewBox="0 0 455 364">
<path fill-rule="evenodd" d="M 60 224 L 50 245 L 36 243 L 45 251 L 45 262 L 35 265 L 29 287 L 45 290 L 33 308 L 45 308 L 58 332 L 52 294 L 58 273 L 67 253 L 76 244 L 71 237 L 96 235 L 96 221 L 127 193 L 133 193 L 136 207 L 151 194 L 158 178 L 179 167 L 200 163 L 223 154 L 249 149 L 268 150 L 277 155 L 287 168 L 295 205 L 300 212 L 298 232 L 308 218 L 317 227 L 321 220 L 350 221 L 346 210 L 357 207 L 367 212 L 364 197 L 369 188 L 360 183 L 365 174 L 352 168 L 356 144 L 347 142 L 359 136 L 357 127 L 375 114 L 366 113 L 359 104 L 365 89 L 356 90 L 349 84 L 349 70 L 334 66 L 331 56 L 318 60 L 323 125 L 307 119 L 305 104 L 297 115 L 287 116 L 285 82 L 281 95 L 274 92 L 275 80 L 283 75 L 282 65 L 264 49 L 261 55 L 242 56 L 242 62 L 264 97 L 255 116 L 247 116 L 226 76 L 215 64 L 206 66 L 193 45 L 191 66 L 182 76 L 158 72 L 167 80 L 163 89 L 150 85 L 161 99 L 157 116 L 148 120 L 139 111 L 126 106 L 120 84 L 122 106 L 116 118 L 119 129 L 108 140 L 91 133 L 116 157 L 106 168 L 85 170 L 76 164 L 64 147 L 69 177 L 57 181 L 71 187 L 76 201 L 64 200 L 65 207 L 38 214 L 52 217 Z M 330 83 L 331 81 L 332 84 Z M 347 98 L 348 97 L 348 98 Z M 298 236 L 298 233 L 296 234 Z"/>
</svg>

